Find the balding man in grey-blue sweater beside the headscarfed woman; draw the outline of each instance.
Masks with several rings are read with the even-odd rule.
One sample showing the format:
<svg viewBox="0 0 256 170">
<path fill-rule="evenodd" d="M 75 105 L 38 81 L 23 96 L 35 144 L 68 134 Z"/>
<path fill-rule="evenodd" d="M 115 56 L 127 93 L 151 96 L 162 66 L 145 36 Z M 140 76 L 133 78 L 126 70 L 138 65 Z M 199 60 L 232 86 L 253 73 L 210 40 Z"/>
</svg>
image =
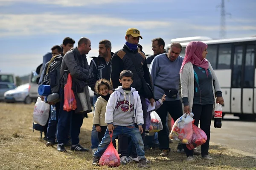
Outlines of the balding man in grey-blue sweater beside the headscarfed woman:
<svg viewBox="0 0 256 170">
<path fill-rule="evenodd" d="M 181 50 L 182 46 L 180 43 L 172 43 L 169 52 L 157 55 L 149 68 L 154 84 L 155 98 L 161 98 L 163 94 L 166 94 L 166 101 L 156 110 L 162 122 L 166 122 L 168 112 L 174 121 L 183 113 L 180 96 L 178 94 L 180 81 L 179 72 L 184 59 L 179 56 Z M 168 135 L 166 126 L 163 126 L 163 130 L 158 132 L 159 147 L 162 150 L 160 156 L 168 156 L 170 152 Z"/>
</svg>

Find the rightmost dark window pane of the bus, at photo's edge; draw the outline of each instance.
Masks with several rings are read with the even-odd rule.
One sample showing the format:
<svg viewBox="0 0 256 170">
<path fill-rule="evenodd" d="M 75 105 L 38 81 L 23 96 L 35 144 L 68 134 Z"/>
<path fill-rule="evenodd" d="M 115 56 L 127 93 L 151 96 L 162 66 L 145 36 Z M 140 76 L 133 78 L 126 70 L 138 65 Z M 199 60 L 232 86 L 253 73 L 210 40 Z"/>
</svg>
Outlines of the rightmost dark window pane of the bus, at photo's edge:
<svg viewBox="0 0 256 170">
<path fill-rule="evenodd" d="M 248 45 L 245 55 L 244 88 L 253 88 L 255 45 Z"/>
</svg>

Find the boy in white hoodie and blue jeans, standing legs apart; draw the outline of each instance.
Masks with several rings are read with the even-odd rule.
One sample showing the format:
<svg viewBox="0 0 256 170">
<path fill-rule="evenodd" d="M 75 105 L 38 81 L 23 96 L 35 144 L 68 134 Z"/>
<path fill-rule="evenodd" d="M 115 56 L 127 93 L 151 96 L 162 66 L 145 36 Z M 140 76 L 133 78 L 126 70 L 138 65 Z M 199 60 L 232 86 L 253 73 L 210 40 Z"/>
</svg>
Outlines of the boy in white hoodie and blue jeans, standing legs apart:
<svg viewBox="0 0 256 170">
<path fill-rule="evenodd" d="M 109 132 L 113 131 L 112 141 L 120 134 L 131 135 L 139 158 L 138 167 L 147 168 L 150 166 L 149 161 L 145 158 L 144 144 L 141 137 L 144 121 L 140 95 L 138 91 L 131 87 L 133 82 L 131 71 L 123 70 L 119 78 L 122 86 L 115 89 L 108 100 L 105 113 L 105 123 L 108 124 L 108 129 L 98 146 L 98 150 L 93 155 L 93 165 L 99 163 L 100 157 L 111 142 Z M 134 126 L 134 123 L 137 123 L 139 129 Z"/>
</svg>

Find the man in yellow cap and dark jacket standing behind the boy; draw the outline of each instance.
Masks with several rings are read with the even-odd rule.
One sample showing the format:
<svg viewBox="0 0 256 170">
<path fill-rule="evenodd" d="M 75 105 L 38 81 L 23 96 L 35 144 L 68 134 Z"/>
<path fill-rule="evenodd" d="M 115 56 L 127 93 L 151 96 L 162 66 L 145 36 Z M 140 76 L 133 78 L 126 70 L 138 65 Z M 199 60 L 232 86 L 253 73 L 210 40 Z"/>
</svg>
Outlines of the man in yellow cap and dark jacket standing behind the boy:
<svg viewBox="0 0 256 170">
<path fill-rule="evenodd" d="M 147 106 L 145 102 L 145 98 L 150 100 L 151 105 L 154 104 L 154 94 L 151 91 L 152 84 L 150 80 L 150 75 L 148 72 L 148 66 L 146 64 L 145 55 L 143 52 L 138 50 L 138 43 L 142 39 L 140 35 L 140 31 L 136 28 L 129 28 L 126 31 L 125 35 L 125 45 L 122 49 L 114 53 L 111 59 L 111 84 L 113 88 L 116 89 L 120 86 L 119 75 L 122 70 L 128 69 L 134 75 L 133 83 L 131 87 L 135 88 L 140 95 L 143 115 L 144 115 L 144 124 L 143 127 L 143 141 L 145 136 L 145 118 L 147 113 Z M 137 127 L 137 125 L 135 125 Z M 131 141 L 129 136 L 120 135 L 118 137 L 119 141 L 119 154 L 121 154 L 121 163 L 126 164 L 131 160 L 131 153 L 129 153 L 128 145 Z M 132 144 L 134 145 L 134 144 Z M 133 150 L 135 151 L 135 147 L 133 146 Z M 132 154 L 133 160 L 137 160 L 136 151 Z"/>
</svg>

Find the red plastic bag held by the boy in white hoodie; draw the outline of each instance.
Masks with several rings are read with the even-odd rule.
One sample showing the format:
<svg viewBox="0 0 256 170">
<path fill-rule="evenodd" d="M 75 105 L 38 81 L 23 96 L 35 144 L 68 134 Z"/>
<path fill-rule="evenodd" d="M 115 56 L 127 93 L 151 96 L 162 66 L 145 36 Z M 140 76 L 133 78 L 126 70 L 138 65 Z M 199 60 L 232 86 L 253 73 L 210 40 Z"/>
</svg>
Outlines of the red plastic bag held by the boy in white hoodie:
<svg viewBox="0 0 256 170">
<path fill-rule="evenodd" d="M 120 165 L 120 157 L 118 152 L 116 151 L 115 147 L 112 143 L 112 133 L 109 132 L 111 142 L 108 145 L 105 152 L 102 154 L 102 156 L 99 159 L 99 165 L 108 165 L 109 167 L 119 167 Z"/>
</svg>

